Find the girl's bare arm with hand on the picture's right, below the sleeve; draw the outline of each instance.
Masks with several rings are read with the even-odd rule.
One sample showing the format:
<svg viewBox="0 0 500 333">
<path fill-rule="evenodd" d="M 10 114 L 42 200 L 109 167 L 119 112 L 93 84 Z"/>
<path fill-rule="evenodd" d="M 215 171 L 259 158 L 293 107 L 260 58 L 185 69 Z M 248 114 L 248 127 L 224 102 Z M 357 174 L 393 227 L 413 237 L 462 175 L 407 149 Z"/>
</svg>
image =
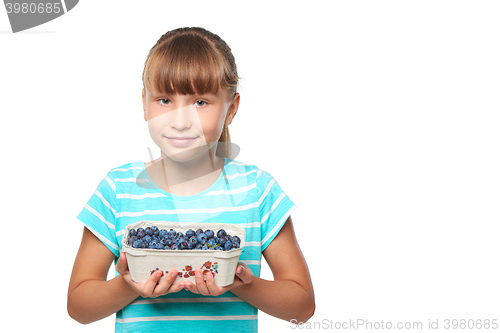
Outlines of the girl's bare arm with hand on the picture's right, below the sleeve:
<svg viewBox="0 0 500 333">
<path fill-rule="evenodd" d="M 274 281 L 256 277 L 249 268 L 241 270 L 238 265 L 236 276 L 239 279 L 235 279 L 235 283 L 230 286 L 217 286 L 212 275 L 207 274 L 206 283 L 202 277 L 196 277 L 196 284 L 186 283 L 186 289 L 212 296 L 230 290 L 271 316 L 287 321 L 309 320 L 316 308 L 314 291 L 309 269 L 295 238 L 291 217 L 262 254 L 273 272 Z M 198 275 L 201 276 L 197 272 Z"/>
</svg>

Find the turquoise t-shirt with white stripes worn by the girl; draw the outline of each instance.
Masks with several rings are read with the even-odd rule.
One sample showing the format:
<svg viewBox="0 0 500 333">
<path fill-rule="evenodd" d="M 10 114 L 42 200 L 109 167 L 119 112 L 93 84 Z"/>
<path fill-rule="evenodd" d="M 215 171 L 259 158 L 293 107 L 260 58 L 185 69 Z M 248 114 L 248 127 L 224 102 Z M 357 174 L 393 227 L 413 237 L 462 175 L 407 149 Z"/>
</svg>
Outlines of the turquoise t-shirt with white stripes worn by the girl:
<svg viewBox="0 0 500 333">
<path fill-rule="evenodd" d="M 110 170 L 78 220 L 116 256 L 128 224 L 141 220 L 234 223 L 245 227 L 239 258 L 260 276 L 262 251 L 296 208 L 276 180 L 255 165 L 224 159 L 219 178 L 205 191 L 177 196 L 157 187 L 143 162 Z M 118 273 L 116 273 L 118 274 Z M 116 332 L 257 332 L 257 308 L 230 291 L 203 296 L 190 291 L 138 297 L 116 313 Z"/>
</svg>

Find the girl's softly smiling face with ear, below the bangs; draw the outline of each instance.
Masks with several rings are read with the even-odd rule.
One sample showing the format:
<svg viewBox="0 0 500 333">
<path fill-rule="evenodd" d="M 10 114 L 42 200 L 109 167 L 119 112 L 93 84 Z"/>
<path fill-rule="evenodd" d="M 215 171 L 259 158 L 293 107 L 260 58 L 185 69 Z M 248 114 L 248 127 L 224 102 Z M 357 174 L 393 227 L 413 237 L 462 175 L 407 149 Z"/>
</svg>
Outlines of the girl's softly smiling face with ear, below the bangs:
<svg viewBox="0 0 500 333">
<path fill-rule="evenodd" d="M 224 89 L 215 95 L 165 95 L 142 90 L 144 120 L 151 138 L 165 155 L 178 162 L 189 161 L 209 148 L 215 154 L 224 124 L 231 124 L 239 101 L 239 93 L 231 100 Z"/>
</svg>

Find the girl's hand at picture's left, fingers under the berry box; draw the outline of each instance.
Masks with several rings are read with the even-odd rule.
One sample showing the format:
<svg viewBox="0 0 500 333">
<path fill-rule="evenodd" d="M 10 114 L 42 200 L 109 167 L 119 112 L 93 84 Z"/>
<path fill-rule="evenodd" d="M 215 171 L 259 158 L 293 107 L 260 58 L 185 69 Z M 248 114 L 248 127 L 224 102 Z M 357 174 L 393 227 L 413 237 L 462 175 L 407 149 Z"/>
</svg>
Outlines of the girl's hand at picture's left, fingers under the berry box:
<svg viewBox="0 0 500 333">
<path fill-rule="evenodd" d="M 151 274 L 149 279 L 143 283 L 137 283 L 130 277 L 130 271 L 127 264 L 127 256 L 125 253 L 120 253 L 120 259 L 118 259 L 118 264 L 116 265 L 116 270 L 123 276 L 125 282 L 135 290 L 142 297 L 156 298 L 169 293 L 176 293 L 181 291 L 184 286 L 180 283 L 172 285 L 175 278 L 177 277 L 177 271 L 172 269 L 168 272 L 167 276 L 158 283 L 160 278 L 163 276 L 162 271 L 157 271 Z"/>
</svg>

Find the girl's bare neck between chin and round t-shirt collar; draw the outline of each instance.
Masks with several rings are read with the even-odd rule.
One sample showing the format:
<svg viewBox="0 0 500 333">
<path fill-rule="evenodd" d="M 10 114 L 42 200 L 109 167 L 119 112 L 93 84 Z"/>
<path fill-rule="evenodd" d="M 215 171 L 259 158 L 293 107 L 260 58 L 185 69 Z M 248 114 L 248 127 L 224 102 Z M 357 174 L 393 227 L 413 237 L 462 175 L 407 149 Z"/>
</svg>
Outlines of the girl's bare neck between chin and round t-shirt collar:
<svg viewBox="0 0 500 333">
<path fill-rule="evenodd" d="M 209 149 L 208 153 L 192 160 L 177 162 L 162 151 L 159 159 L 148 164 L 146 169 L 156 186 L 173 195 L 191 196 L 215 183 L 224 167 L 224 159 Z"/>
</svg>

